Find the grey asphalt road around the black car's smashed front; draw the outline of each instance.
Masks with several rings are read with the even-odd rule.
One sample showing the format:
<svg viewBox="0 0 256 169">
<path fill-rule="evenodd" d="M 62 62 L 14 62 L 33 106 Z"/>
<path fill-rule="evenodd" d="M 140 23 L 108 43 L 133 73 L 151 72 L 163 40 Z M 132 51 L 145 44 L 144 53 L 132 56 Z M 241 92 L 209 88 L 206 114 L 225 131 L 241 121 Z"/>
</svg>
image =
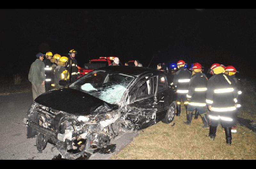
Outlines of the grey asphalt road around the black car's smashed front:
<svg viewBox="0 0 256 169">
<path fill-rule="evenodd" d="M 31 92 L 0 96 L 0 159 L 61 159 L 60 152 L 48 143 L 42 153 L 36 149 L 36 138 L 27 138 L 23 124 L 32 104 Z M 81 159 L 109 159 L 132 141 L 138 132 L 122 132 L 111 146 Z"/>
</svg>

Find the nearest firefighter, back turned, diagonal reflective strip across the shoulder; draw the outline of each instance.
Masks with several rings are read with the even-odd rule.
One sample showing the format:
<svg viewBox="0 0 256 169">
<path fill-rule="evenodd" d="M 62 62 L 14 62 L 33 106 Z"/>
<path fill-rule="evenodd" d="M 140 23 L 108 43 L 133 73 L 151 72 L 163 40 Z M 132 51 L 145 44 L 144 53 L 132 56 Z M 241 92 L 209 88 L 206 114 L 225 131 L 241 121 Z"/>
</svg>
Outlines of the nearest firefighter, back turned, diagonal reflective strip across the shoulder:
<svg viewBox="0 0 256 169">
<path fill-rule="evenodd" d="M 211 66 L 213 76 L 207 81 L 206 104 L 209 114 L 209 137 L 214 140 L 220 123 L 225 130 L 226 143 L 231 144 L 231 127 L 236 125 L 237 89 L 232 77 L 225 74 L 219 63 Z"/>
</svg>

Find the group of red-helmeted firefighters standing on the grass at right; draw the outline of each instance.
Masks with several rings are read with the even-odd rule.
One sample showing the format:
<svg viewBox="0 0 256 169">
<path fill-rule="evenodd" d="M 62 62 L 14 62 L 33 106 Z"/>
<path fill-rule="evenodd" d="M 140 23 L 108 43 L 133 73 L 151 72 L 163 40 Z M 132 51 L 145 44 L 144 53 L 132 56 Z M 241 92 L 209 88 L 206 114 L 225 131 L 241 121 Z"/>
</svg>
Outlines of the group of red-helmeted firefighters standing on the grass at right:
<svg viewBox="0 0 256 169">
<path fill-rule="evenodd" d="M 190 70 L 184 66 L 183 60 L 177 62 L 178 71 L 174 73 L 171 85 L 176 86 L 176 115 L 180 116 L 180 105 L 186 108 L 187 125 L 191 124 L 193 111 L 195 118 L 200 114 L 203 128 L 210 129 L 209 137 L 214 140 L 217 126 L 221 124 L 225 130 L 226 143 L 231 144 L 232 132 L 236 132 L 237 110 L 241 107 L 239 79 L 235 77 L 234 66 L 212 64 L 207 79 L 202 73 L 200 63 L 193 63 Z"/>
</svg>

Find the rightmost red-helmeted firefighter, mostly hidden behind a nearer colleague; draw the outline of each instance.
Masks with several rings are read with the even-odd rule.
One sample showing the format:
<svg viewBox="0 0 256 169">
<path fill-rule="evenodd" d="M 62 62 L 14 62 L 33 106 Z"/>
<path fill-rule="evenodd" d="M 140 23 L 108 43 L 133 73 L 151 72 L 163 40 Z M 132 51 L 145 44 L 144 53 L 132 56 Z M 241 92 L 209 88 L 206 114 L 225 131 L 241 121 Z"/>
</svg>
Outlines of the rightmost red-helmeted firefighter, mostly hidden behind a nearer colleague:
<svg viewBox="0 0 256 169">
<path fill-rule="evenodd" d="M 237 104 L 236 104 L 236 108 L 237 110 L 240 109 L 241 107 L 241 100 L 240 100 L 240 94 L 242 94 L 242 91 L 241 91 L 241 86 L 240 86 L 240 79 L 236 78 L 235 74 L 237 73 L 238 71 L 236 71 L 236 68 L 234 66 L 227 66 L 225 67 L 225 73 L 232 77 L 236 83 L 236 89 L 237 89 L 237 95 L 236 95 L 236 99 L 237 99 Z M 232 133 L 236 133 L 236 129 L 237 127 L 236 126 L 233 126 L 232 129 L 231 129 L 231 132 Z"/>
</svg>

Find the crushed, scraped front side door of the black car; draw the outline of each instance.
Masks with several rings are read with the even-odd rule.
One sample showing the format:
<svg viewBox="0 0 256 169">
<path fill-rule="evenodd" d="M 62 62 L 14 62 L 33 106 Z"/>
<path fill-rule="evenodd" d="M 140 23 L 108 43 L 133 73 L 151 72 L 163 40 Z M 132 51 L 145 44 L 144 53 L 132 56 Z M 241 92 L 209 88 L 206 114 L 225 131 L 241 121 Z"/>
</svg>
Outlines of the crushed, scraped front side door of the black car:
<svg viewBox="0 0 256 169">
<path fill-rule="evenodd" d="M 155 84 L 154 84 L 155 82 Z M 156 121 L 156 88 L 157 77 L 145 76 L 132 89 L 133 102 L 127 105 L 127 120 L 132 121 L 137 129 L 146 128 Z"/>
</svg>

